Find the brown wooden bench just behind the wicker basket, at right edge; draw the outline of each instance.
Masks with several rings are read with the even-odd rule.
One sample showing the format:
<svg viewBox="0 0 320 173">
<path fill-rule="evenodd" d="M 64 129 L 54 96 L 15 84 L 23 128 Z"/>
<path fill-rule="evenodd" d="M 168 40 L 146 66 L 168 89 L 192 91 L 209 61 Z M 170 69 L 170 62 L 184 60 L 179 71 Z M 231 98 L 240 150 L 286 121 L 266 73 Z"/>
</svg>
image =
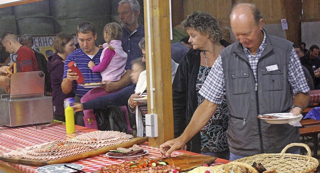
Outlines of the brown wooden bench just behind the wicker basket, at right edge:
<svg viewBox="0 0 320 173">
<path fill-rule="evenodd" d="M 304 143 L 304 137 L 307 138 L 307 142 L 313 143 L 313 158 L 318 157 L 318 134 L 320 133 L 320 125 L 319 126 L 308 126 L 302 127 L 299 129 L 300 136 L 302 137 L 302 143 Z"/>
</svg>

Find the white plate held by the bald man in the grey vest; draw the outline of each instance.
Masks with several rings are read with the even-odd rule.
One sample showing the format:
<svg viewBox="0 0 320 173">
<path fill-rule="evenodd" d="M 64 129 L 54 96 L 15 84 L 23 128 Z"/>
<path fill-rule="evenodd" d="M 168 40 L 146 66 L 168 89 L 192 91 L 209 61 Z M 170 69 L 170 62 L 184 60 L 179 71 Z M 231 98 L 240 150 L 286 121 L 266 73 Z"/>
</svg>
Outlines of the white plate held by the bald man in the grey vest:
<svg viewBox="0 0 320 173">
<path fill-rule="evenodd" d="M 275 119 L 271 119 L 271 118 L 263 118 L 263 116 L 261 115 L 257 116 L 259 119 L 264 120 L 269 124 L 287 124 L 291 120 L 299 119 L 300 117 L 302 117 L 301 114 L 295 116 L 292 113 L 274 113 L 274 114 L 263 114 L 263 115 L 276 117 Z"/>
</svg>

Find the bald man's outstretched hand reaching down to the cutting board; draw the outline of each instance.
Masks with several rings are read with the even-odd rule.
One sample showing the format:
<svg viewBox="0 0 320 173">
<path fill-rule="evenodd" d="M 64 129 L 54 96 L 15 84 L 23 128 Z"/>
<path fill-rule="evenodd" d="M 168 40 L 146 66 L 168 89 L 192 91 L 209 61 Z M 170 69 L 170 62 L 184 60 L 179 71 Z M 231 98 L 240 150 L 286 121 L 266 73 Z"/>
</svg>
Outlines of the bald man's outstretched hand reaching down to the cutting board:
<svg viewBox="0 0 320 173">
<path fill-rule="evenodd" d="M 174 150 L 178 150 L 184 147 L 184 142 L 180 137 L 167 141 L 160 145 L 160 153 L 162 157 L 170 157 Z"/>
</svg>

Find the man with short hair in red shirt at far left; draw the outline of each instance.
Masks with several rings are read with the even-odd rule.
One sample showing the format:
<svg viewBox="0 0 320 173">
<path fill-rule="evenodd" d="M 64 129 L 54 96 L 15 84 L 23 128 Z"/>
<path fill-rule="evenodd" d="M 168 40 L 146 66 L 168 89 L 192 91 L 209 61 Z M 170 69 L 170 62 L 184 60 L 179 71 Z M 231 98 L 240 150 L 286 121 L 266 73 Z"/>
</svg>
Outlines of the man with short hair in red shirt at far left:
<svg viewBox="0 0 320 173">
<path fill-rule="evenodd" d="M 1 36 L 1 43 L 9 53 L 16 53 L 17 72 L 38 71 L 38 64 L 33 51 L 22 46 L 15 34 L 4 32 Z"/>
</svg>

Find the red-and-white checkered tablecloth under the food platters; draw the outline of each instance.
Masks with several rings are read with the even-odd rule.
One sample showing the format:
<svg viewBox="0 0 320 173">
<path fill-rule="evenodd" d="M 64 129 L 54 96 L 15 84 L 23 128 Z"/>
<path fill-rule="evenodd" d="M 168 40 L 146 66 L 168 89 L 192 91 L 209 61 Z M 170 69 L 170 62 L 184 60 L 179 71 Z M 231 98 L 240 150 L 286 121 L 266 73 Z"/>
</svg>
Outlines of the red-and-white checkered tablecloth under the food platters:
<svg viewBox="0 0 320 173">
<path fill-rule="evenodd" d="M 57 125 L 53 127 L 47 127 L 41 130 L 35 130 L 34 126 L 26 127 L 0 127 L 0 155 L 4 153 L 16 150 L 16 148 L 25 148 L 28 146 L 34 146 L 42 144 L 45 142 L 55 141 L 55 140 L 65 140 L 68 138 L 73 138 L 82 133 L 76 130 L 74 134 L 66 134 L 64 125 Z M 147 150 L 149 158 L 159 158 L 160 153 L 158 148 L 149 147 L 147 145 L 140 145 L 140 147 Z M 177 156 L 183 154 L 182 152 L 175 151 L 172 156 Z M 1 163 L 8 165 L 12 168 L 21 170 L 26 173 L 36 173 L 38 167 L 25 166 L 19 164 L 11 164 L 0 161 Z M 92 158 L 87 158 L 84 160 L 72 162 L 73 164 L 80 164 L 84 166 L 83 170 L 86 173 L 93 171 L 98 171 L 101 167 L 112 164 L 119 164 L 124 162 L 123 160 L 110 159 L 104 155 L 95 156 Z"/>
</svg>

